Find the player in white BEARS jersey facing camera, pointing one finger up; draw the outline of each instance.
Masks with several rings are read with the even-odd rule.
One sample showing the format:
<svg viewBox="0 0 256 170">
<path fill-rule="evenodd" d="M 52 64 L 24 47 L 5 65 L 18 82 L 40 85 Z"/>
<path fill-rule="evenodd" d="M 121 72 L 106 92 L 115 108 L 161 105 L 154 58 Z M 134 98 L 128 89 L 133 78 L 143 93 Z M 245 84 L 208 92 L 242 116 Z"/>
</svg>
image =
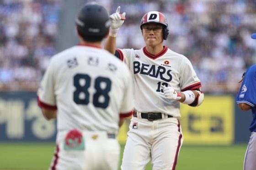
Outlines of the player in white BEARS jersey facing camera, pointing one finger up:
<svg viewBox="0 0 256 170">
<path fill-rule="evenodd" d="M 141 20 L 145 47 L 117 49 L 116 36 L 126 13 L 110 15 L 105 49 L 123 60 L 133 75 L 134 114 L 129 126 L 122 170 L 175 170 L 183 141 L 180 103 L 199 106 L 204 95 L 191 62 L 163 45 L 169 29 L 163 14 L 151 11 Z"/>
</svg>

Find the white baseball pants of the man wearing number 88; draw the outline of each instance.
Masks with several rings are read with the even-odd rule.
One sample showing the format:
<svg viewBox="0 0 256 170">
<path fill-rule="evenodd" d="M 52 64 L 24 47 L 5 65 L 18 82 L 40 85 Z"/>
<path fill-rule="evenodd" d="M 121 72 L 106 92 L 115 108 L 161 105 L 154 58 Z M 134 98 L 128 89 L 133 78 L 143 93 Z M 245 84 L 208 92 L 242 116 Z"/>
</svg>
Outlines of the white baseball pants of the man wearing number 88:
<svg viewBox="0 0 256 170">
<path fill-rule="evenodd" d="M 64 140 L 56 146 L 49 170 L 118 170 L 120 145 L 107 132 L 82 132 L 84 150 L 65 150 Z"/>
</svg>

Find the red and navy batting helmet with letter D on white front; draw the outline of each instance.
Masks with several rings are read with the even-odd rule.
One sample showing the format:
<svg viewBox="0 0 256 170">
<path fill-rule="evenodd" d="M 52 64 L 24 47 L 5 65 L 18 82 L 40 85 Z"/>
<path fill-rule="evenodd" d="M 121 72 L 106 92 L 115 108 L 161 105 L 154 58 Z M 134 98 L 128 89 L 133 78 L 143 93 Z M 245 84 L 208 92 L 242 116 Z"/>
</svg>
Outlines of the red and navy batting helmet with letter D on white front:
<svg viewBox="0 0 256 170">
<path fill-rule="evenodd" d="M 167 19 L 165 18 L 165 15 L 157 11 L 148 12 L 141 19 L 140 29 L 142 30 L 142 26 L 150 22 L 155 22 L 163 25 L 164 27 L 163 39 L 166 40 L 169 35 L 169 28 L 168 28 L 168 22 L 167 22 Z"/>
</svg>

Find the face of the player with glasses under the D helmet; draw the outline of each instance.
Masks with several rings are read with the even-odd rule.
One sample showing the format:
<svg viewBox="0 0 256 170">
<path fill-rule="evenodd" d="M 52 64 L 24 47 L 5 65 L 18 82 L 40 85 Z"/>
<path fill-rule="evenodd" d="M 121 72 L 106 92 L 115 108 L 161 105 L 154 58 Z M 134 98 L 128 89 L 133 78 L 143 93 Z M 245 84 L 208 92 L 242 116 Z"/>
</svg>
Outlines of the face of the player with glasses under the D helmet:
<svg viewBox="0 0 256 170">
<path fill-rule="evenodd" d="M 147 23 L 142 27 L 142 35 L 146 45 L 156 46 L 163 43 L 163 26 L 157 23 Z"/>
</svg>

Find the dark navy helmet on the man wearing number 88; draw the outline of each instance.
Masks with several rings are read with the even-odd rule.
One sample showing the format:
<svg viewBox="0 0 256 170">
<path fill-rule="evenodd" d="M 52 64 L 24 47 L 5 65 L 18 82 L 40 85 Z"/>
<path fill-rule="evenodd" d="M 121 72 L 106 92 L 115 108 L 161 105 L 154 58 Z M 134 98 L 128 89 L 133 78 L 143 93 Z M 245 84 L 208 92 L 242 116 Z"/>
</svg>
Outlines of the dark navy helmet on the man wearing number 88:
<svg viewBox="0 0 256 170">
<path fill-rule="evenodd" d="M 108 11 L 102 5 L 88 3 L 79 11 L 75 24 L 83 36 L 103 38 L 110 27 Z"/>
</svg>

